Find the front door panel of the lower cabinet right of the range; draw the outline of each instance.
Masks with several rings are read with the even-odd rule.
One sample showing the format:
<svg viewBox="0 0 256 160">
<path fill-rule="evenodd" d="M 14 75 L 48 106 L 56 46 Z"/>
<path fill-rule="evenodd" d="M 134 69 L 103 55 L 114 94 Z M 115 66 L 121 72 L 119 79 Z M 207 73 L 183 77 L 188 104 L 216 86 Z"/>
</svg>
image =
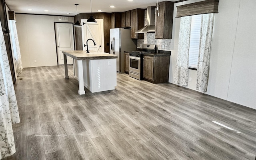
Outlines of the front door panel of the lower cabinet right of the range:
<svg viewBox="0 0 256 160">
<path fill-rule="evenodd" d="M 144 56 L 143 58 L 143 78 L 153 80 L 154 57 Z"/>
</svg>

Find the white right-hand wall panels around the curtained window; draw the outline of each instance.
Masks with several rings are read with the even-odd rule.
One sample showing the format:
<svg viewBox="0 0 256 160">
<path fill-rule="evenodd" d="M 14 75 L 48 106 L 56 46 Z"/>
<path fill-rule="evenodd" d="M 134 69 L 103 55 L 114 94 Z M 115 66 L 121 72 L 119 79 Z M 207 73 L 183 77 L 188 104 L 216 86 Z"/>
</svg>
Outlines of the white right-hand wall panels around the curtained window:
<svg viewBox="0 0 256 160">
<path fill-rule="evenodd" d="M 173 76 L 178 52 L 180 18 L 174 5 L 174 30 L 171 45 L 170 77 Z M 220 0 L 214 19 L 209 82 L 206 94 L 256 109 L 256 1 Z M 189 70 L 187 88 L 196 89 L 196 71 Z"/>
</svg>

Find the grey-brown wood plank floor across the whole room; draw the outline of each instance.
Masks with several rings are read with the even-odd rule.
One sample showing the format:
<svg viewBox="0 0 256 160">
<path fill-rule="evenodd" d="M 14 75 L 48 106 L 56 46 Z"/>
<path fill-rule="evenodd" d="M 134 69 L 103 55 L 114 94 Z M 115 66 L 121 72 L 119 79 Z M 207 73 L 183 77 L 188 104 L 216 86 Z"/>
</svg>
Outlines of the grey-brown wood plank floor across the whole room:
<svg viewBox="0 0 256 160">
<path fill-rule="evenodd" d="M 63 66 L 24 68 L 16 154 L 5 160 L 255 159 L 256 110 L 127 74 L 116 90 L 78 95 L 72 74 L 70 65 L 68 80 Z"/>
</svg>

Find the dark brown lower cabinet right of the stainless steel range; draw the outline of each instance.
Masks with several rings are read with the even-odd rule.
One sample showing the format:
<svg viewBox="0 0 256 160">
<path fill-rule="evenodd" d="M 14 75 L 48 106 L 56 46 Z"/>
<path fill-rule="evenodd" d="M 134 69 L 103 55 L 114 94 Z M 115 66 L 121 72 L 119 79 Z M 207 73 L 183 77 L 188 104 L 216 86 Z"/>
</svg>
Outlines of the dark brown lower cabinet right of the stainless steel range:
<svg viewBox="0 0 256 160">
<path fill-rule="evenodd" d="M 152 83 L 169 80 L 170 55 L 154 55 L 143 58 L 143 78 Z"/>
</svg>

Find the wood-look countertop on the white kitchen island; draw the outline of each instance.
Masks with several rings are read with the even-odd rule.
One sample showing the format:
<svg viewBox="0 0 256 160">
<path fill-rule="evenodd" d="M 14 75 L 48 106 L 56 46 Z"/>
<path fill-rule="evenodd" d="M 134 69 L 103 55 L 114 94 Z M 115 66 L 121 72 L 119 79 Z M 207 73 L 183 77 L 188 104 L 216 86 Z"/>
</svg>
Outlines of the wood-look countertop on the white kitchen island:
<svg viewBox="0 0 256 160">
<path fill-rule="evenodd" d="M 108 54 L 105 52 L 90 51 L 90 53 L 87 53 L 84 50 L 62 50 L 62 53 L 76 60 L 88 60 L 88 59 L 98 60 L 98 59 L 112 59 L 112 58 L 118 57 L 116 55 Z"/>
</svg>

